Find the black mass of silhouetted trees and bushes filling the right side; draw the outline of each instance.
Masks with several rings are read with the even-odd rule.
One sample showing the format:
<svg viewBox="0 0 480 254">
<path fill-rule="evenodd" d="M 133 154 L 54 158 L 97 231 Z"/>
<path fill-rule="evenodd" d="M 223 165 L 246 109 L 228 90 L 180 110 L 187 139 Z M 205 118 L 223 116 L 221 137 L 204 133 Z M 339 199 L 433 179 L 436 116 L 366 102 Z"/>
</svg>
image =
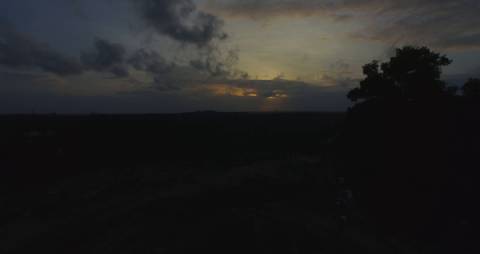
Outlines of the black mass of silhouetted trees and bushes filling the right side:
<svg viewBox="0 0 480 254">
<path fill-rule="evenodd" d="M 356 222 L 426 253 L 475 253 L 480 80 L 449 88 L 446 56 L 403 47 L 364 66 L 336 143 Z"/>
</svg>

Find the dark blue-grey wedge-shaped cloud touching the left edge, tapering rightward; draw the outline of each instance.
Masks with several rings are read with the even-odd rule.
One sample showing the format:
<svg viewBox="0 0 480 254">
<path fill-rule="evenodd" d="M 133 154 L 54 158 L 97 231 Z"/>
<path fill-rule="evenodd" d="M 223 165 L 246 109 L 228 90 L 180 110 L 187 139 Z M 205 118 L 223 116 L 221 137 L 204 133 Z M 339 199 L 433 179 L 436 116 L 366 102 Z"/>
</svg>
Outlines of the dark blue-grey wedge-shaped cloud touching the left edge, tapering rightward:
<svg viewBox="0 0 480 254">
<path fill-rule="evenodd" d="M 76 59 L 20 34 L 7 21 L 0 21 L 0 65 L 12 69 L 39 69 L 61 76 L 83 72 Z"/>
</svg>

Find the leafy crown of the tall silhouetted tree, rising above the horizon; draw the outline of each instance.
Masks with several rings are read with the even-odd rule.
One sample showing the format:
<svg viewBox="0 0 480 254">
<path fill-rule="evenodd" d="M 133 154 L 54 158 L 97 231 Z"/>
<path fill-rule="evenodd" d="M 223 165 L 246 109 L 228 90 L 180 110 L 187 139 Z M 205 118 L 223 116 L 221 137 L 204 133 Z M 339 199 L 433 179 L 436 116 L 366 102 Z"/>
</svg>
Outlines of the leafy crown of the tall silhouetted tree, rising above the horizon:
<svg viewBox="0 0 480 254">
<path fill-rule="evenodd" d="M 375 98 L 421 100 L 447 93 L 441 68 L 452 61 L 426 47 L 399 48 L 390 61 L 363 67 L 366 78 L 348 98 L 354 102 Z"/>
</svg>

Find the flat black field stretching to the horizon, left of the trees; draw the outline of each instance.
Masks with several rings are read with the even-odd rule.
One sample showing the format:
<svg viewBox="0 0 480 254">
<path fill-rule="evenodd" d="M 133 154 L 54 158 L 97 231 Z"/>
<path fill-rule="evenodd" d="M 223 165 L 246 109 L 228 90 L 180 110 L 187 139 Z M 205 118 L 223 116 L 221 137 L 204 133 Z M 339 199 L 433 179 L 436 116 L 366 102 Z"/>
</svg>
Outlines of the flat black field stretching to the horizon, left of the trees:
<svg viewBox="0 0 480 254">
<path fill-rule="evenodd" d="M 341 227 L 328 157 L 343 118 L 214 112 L 3 116 L 0 230 L 8 239 L 0 248 L 2 253 L 388 248 Z"/>
</svg>

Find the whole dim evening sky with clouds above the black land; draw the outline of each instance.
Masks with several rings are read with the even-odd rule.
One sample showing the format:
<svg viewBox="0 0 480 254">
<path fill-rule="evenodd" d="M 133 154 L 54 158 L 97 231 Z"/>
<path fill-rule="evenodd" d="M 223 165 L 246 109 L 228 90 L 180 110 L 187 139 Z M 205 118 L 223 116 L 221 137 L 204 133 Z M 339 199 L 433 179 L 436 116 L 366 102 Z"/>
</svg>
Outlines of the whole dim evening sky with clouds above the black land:
<svg viewBox="0 0 480 254">
<path fill-rule="evenodd" d="M 4 0 L 0 113 L 340 111 L 402 45 L 480 73 L 478 0 Z"/>
</svg>

